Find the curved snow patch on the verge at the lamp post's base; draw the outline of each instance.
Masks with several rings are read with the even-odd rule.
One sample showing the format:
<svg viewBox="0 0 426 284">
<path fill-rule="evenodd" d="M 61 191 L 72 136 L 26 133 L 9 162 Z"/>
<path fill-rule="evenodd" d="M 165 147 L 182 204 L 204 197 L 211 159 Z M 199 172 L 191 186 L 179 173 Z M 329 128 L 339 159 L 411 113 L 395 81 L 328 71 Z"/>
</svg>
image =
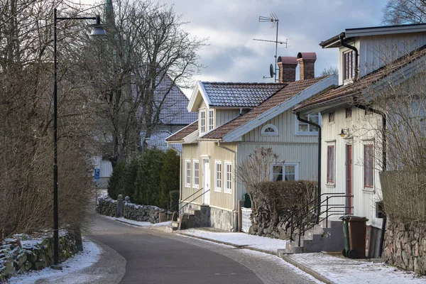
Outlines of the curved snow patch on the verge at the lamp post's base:
<svg viewBox="0 0 426 284">
<path fill-rule="evenodd" d="M 72 258 L 68 258 L 67 261 L 61 263 L 63 267 L 62 271 L 55 271 L 52 268 L 45 268 L 41 271 L 31 271 L 10 278 L 9 283 L 33 284 L 36 280 L 41 278 L 63 277 L 67 273 L 75 273 L 76 271 L 92 266 L 92 264 L 99 260 L 102 249 L 92 241 L 83 239 L 83 249 L 84 251 L 76 253 Z"/>
</svg>

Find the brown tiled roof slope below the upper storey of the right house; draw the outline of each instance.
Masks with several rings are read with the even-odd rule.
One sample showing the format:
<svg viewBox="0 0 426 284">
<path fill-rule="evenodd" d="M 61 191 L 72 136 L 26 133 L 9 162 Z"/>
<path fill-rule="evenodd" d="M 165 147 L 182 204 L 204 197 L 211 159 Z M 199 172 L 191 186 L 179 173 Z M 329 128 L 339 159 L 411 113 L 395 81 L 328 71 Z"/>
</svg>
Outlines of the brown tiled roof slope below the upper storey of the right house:
<svg viewBox="0 0 426 284">
<path fill-rule="evenodd" d="M 426 45 L 423 45 L 422 48 L 419 48 L 418 50 L 408 53 L 408 55 L 404 55 L 394 60 L 393 62 L 379 68 L 378 70 L 368 73 L 353 84 L 339 86 L 330 90 L 329 92 L 325 92 L 315 99 L 310 99 L 309 101 L 305 102 L 305 104 L 301 104 L 299 107 L 295 108 L 295 111 L 313 109 L 315 106 L 320 104 L 339 101 L 349 97 L 354 97 L 357 94 L 361 94 L 361 91 L 367 87 L 370 87 L 371 84 L 380 81 L 387 75 L 391 75 L 392 73 L 397 72 L 405 65 L 410 64 L 424 55 L 426 55 Z"/>
</svg>

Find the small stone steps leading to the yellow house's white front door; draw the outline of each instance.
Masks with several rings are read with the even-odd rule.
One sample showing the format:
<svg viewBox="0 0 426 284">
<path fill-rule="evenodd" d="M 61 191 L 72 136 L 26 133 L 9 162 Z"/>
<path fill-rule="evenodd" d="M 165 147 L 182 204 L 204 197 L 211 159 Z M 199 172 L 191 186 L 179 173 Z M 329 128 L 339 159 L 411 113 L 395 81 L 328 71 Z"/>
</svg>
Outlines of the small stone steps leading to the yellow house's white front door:
<svg viewBox="0 0 426 284">
<path fill-rule="evenodd" d="M 176 231 L 203 226 L 210 226 L 209 205 L 189 204 L 185 212 L 180 214 L 176 221 L 172 221 L 171 227 Z"/>
</svg>

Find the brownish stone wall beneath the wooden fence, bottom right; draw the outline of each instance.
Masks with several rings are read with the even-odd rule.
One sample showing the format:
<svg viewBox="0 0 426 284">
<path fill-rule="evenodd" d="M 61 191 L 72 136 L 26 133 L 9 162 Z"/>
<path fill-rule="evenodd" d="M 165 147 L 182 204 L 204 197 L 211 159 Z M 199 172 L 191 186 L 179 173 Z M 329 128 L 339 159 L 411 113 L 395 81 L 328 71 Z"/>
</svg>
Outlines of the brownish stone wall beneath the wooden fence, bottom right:
<svg viewBox="0 0 426 284">
<path fill-rule="evenodd" d="M 426 275 L 426 223 L 388 222 L 382 257 L 389 264 Z"/>
</svg>

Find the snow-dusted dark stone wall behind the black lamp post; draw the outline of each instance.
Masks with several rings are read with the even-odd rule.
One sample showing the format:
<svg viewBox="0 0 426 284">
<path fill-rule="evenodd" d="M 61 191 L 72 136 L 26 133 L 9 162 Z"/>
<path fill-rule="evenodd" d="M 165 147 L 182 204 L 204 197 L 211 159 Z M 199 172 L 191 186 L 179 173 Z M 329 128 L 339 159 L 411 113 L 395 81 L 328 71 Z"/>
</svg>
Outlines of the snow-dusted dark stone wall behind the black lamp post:
<svg viewBox="0 0 426 284">
<path fill-rule="evenodd" d="M 39 241 L 25 241 L 22 236 L 15 235 L 0 243 L 0 283 L 14 275 L 40 270 L 53 264 L 53 237 Z M 77 252 L 76 243 L 74 234 L 59 237 L 60 262 Z"/>
</svg>

